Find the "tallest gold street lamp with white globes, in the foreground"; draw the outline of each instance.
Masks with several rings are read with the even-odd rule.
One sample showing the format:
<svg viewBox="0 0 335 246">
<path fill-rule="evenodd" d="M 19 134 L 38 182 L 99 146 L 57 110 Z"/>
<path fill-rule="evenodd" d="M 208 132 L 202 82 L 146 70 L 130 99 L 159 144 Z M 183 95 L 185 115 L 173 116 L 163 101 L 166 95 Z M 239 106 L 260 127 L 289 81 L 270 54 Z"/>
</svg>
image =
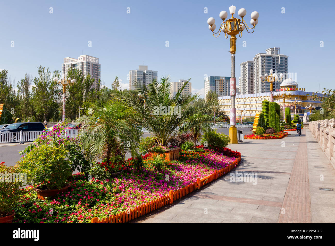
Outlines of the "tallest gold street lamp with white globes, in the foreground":
<svg viewBox="0 0 335 246">
<path fill-rule="evenodd" d="M 229 137 L 231 144 L 238 144 L 237 141 L 237 129 L 236 129 L 236 107 L 235 107 L 235 96 L 236 96 L 236 78 L 235 78 L 235 53 L 236 53 L 236 35 L 239 34 L 242 37 L 241 33 L 243 30 L 247 30 L 249 33 L 253 33 L 255 26 L 258 23 L 259 14 L 257 11 L 251 13 L 250 23 L 251 28 L 248 27 L 246 21 L 243 19 L 247 14 L 247 10 L 242 8 L 239 10 L 238 14 L 242 19 L 234 18 L 236 12 L 236 6 L 229 7 L 229 13 L 231 18 L 225 20 L 228 16 L 226 11 L 221 11 L 219 14 L 220 19 L 223 22 L 220 25 L 220 28 L 217 32 L 214 32 L 216 25 L 215 19 L 213 17 L 208 18 L 208 28 L 212 31 L 214 37 L 218 37 L 221 34 L 221 31 L 224 32 L 225 38 L 228 38 L 230 35 L 230 54 L 231 54 L 231 78 L 230 78 L 230 96 L 231 96 L 231 108 L 230 108 L 230 128 L 229 128 Z M 252 30 L 250 32 L 248 29 Z M 218 34 L 215 36 L 214 34 Z"/>
</svg>

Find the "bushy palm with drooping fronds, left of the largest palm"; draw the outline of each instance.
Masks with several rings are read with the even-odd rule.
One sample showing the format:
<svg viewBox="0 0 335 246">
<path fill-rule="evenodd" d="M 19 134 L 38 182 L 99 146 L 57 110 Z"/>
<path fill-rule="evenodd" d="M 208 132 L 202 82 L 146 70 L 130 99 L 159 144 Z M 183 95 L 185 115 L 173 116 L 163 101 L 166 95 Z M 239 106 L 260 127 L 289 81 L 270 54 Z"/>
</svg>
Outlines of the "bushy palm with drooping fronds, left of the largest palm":
<svg viewBox="0 0 335 246">
<path fill-rule="evenodd" d="M 87 158 L 114 162 L 116 156 L 124 157 L 126 150 L 135 156 L 142 130 L 132 118 L 136 114 L 134 110 L 117 99 L 102 106 L 86 102 L 85 107 L 85 115 L 75 122 L 81 123 L 78 136 Z"/>
</svg>

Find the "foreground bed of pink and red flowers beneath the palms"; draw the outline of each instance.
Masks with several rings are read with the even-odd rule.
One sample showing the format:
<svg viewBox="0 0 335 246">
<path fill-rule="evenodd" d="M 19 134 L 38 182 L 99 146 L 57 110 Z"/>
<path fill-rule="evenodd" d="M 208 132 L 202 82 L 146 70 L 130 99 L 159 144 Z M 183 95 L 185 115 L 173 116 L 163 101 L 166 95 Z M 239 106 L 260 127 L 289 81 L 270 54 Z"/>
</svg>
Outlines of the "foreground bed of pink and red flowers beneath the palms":
<svg viewBox="0 0 335 246">
<path fill-rule="evenodd" d="M 29 186 L 15 208 L 14 222 L 89 223 L 98 222 L 97 218 L 126 222 L 182 197 L 237 165 L 238 152 L 229 149 L 222 152 L 208 149 L 200 153 L 182 152 L 179 161 L 166 162 L 161 172 L 147 166 L 138 173 L 130 158 L 124 172 L 112 180 L 102 182 L 81 173 L 72 175 L 68 180 L 71 188 L 54 199 L 38 199 L 33 187 Z M 143 156 L 149 163 L 150 158 L 153 157 Z"/>
</svg>

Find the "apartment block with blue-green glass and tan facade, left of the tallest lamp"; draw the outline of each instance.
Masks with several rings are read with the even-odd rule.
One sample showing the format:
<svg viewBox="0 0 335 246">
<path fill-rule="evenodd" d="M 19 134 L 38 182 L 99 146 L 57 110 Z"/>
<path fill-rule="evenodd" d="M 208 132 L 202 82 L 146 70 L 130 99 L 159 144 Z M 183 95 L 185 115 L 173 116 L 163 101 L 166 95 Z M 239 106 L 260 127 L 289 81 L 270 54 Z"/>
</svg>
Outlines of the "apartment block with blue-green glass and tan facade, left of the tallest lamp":
<svg viewBox="0 0 335 246">
<path fill-rule="evenodd" d="M 205 79 L 205 99 L 208 91 L 215 91 L 218 96 L 230 95 L 230 77 L 207 77 Z"/>
</svg>

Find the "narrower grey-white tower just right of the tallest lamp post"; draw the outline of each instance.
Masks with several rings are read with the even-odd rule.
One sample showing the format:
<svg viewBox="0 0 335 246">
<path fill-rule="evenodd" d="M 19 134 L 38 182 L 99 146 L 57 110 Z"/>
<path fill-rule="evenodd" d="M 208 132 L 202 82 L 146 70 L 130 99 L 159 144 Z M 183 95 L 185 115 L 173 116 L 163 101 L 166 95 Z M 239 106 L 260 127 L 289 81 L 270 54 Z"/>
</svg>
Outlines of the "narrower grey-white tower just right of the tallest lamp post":
<svg viewBox="0 0 335 246">
<path fill-rule="evenodd" d="M 241 77 L 239 87 L 241 94 L 254 93 L 254 61 L 246 61 L 240 64 Z"/>
</svg>

